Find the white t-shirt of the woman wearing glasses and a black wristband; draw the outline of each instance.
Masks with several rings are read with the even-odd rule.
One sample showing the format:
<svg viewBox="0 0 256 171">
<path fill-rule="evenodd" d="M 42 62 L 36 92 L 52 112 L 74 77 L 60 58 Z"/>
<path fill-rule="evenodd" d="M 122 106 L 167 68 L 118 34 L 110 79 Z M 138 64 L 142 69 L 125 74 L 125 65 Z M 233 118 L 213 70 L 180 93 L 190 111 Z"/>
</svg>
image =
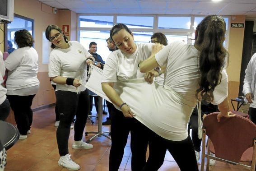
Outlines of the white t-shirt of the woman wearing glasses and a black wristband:
<svg viewBox="0 0 256 171">
<path fill-rule="evenodd" d="M 69 48 L 61 49 L 56 47 L 51 51 L 48 65 L 49 77 L 62 76 L 86 82 L 86 59 L 92 57 L 92 55 L 79 42 L 70 41 L 68 43 L 70 45 Z M 86 88 L 80 85 L 78 89 L 82 92 Z M 56 91 L 58 90 L 76 92 L 76 88 L 73 85 L 67 84 L 57 84 Z"/>
</svg>

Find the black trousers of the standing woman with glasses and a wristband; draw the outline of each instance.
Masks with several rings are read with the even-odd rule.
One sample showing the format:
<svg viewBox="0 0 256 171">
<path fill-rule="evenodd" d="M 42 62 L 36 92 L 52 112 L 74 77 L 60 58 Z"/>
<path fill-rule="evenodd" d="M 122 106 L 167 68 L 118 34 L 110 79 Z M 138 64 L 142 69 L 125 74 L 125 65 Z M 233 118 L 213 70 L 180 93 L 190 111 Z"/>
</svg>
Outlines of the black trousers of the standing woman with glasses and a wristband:
<svg viewBox="0 0 256 171">
<path fill-rule="evenodd" d="M 89 93 L 77 94 L 70 91 L 56 91 L 58 110 L 60 112 L 60 125 L 58 126 L 56 137 L 61 156 L 69 153 L 68 141 L 70 136 L 70 125 L 76 116 L 74 123 L 74 140 L 79 141 L 83 138 L 84 127 L 90 111 Z"/>
</svg>

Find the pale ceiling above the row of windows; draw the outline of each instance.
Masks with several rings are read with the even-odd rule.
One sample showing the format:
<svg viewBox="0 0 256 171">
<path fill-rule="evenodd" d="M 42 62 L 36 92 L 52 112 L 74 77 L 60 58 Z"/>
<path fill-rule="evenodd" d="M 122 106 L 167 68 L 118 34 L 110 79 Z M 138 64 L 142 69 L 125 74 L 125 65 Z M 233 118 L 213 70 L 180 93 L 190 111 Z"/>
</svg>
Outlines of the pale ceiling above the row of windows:
<svg viewBox="0 0 256 171">
<path fill-rule="evenodd" d="M 256 17 L 256 0 L 39 0 L 77 14 L 246 15 Z"/>
</svg>

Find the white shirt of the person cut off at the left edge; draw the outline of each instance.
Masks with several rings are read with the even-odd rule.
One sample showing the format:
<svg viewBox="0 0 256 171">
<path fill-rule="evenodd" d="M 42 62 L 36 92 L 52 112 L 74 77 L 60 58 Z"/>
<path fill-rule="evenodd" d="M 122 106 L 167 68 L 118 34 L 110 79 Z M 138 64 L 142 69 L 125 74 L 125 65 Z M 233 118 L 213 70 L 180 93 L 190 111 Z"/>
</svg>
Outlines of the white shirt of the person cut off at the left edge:
<svg viewBox="0 0 256 171">
<path fill-rule="evenodd" d="M 3 54 L 0 51 L 0 84 L 4 83 L 4 79 L 3 79 L 4 75 L 5 75 L 5 63 L 3 60 Z M 7 92 L 6 88 L 0 85 L 0 104 L 2 104 L 5 101 L 6 92 Z"/>
</svg>

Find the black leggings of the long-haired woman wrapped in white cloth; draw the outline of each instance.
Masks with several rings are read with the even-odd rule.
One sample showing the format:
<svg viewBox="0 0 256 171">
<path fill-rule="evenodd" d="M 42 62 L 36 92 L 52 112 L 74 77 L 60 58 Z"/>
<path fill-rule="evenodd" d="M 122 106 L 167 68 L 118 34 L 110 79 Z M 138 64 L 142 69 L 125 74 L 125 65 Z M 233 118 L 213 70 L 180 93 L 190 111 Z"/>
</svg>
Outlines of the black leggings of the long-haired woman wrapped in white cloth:
<svg viewBox="0 0 256 171">
<path fill-rule="evenodd" d="M 181 171 L 198 171 L 195 150 L 190 136 L 182 141 L 164 139 L 150 131 L 149 159 L 143 171 L 157 171 L 163 164 L 166 150 L 172 154 Z"/>
</svg>

